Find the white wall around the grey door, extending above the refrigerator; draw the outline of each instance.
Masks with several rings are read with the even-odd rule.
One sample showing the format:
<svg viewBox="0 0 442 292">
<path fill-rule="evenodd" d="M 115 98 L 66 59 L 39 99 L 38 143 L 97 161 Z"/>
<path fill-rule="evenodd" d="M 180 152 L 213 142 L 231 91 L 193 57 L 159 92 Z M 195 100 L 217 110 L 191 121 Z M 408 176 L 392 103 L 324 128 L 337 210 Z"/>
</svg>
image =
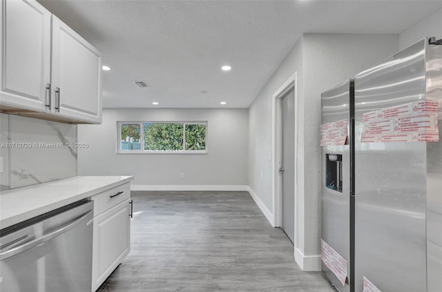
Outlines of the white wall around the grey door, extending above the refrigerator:
<svg viewBox="0 0 442 292">
<path fill-rule="evenodd" d="M 320 269 L 320 93 L 397 50 L 397 34 L 304 34 L 249 108 L 249 185 L 265 206 L 263 211 L 273 212 L 272 163 L 267 160 L 272 95 L 297 73 L 295 255 L 303 269 Z M 260 171 L 266 174 L 262 180 Z"/>
</svg>

